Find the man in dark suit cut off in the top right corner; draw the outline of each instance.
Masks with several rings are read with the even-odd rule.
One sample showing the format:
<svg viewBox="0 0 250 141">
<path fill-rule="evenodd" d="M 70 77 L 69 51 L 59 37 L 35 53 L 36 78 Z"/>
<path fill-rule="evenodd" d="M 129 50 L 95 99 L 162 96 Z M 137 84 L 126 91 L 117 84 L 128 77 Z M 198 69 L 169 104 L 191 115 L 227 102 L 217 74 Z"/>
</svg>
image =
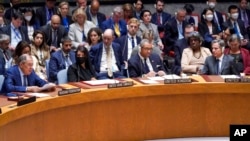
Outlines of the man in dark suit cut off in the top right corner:
<svg viewBox="0 0 250 141">
<path fill-rule="evenodd" d="M 244 22 L 246 29 L 250 25 L 250 10 L 247 9 L 247 6 L 248 6 L 248 0 L 240 0 L 239 19 L 241 19 Z"/>
</svg>

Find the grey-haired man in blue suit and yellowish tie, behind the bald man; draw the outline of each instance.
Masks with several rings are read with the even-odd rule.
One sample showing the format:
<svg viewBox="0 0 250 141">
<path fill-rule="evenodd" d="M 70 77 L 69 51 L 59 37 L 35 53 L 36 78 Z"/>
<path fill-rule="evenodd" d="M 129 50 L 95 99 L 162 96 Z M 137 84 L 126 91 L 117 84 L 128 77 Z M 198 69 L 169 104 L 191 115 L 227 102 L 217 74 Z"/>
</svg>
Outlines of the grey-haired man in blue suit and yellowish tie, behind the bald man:
<svg viewBox="0 0 250 141">
<path fill-rule="evenodd" d="M 113 15 L 104 21 L 101 25 L 102 31 L 106 29 L 112 29 L 115 33 L 115 37 L 120 37 L 127 34 L 127 24 L 122 19 L 123 10 L 120 6 L 115 7 L 113 10 Z"/>
</svg>

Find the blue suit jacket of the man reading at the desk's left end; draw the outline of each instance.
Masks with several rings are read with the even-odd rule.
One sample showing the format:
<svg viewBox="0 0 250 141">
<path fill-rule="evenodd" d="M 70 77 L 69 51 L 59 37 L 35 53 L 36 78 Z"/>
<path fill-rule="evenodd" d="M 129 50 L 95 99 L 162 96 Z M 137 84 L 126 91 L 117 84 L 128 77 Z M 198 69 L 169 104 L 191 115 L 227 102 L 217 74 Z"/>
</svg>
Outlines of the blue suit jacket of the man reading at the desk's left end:
<svg viewBox="0 0 250 141">
<path fill-rule="evenodd" d="M 34 70 L 30 75 L 27 76 L 28 86 L 39 86 L 42 87 L 47 82 L 36 75 Z M 26 86 L 22 86 L 20 71 L 18 66 L 12 66 L 7 70 L 4 79 L 3 92 L 26 92 Z"/>
</svg>

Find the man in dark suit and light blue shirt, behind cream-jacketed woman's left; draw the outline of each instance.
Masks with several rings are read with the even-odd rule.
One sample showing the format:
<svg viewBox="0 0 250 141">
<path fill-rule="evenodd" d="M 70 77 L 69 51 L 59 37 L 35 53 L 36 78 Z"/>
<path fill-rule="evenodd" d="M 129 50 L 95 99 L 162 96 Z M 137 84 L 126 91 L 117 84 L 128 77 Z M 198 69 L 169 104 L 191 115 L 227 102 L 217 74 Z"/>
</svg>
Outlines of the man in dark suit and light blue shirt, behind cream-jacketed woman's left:
<svg viewBox="0 0 250 141">
<path fill-rule="evenodd" d="M 165 25 L 165 48 L 166 54 L 173 50 L 173 45 L 177 40 L 184 38 L 184 28 L 188 24 L 185 21 L 186 10 L 179 9 L 175 13 L 175 17 L 171 18 Z"/>
</svg>

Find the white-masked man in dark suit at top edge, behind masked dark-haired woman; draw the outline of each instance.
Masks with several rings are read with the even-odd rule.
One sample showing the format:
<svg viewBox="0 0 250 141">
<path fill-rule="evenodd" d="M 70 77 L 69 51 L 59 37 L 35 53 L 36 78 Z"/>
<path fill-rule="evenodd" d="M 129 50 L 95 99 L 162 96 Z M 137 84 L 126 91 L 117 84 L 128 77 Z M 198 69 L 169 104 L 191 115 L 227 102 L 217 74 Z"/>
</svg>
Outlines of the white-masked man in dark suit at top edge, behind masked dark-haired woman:
<svg viewBox="0 0 250 141">
<path fill-rule="evenodd" d="M 222 24 L 224 22 L 221 12 L 215 10 L 215 6 L 217 4 L 217 0 L 208 0 L 207 5 L 209 8 L 211 8 L 214 11 L 214 17 L 213 22 L 215 25 L 217 25 L 218 30 L 221 32 L 223 30 Z M 203 17 L 201 15 L 201 17 Z"/>
</svg>

